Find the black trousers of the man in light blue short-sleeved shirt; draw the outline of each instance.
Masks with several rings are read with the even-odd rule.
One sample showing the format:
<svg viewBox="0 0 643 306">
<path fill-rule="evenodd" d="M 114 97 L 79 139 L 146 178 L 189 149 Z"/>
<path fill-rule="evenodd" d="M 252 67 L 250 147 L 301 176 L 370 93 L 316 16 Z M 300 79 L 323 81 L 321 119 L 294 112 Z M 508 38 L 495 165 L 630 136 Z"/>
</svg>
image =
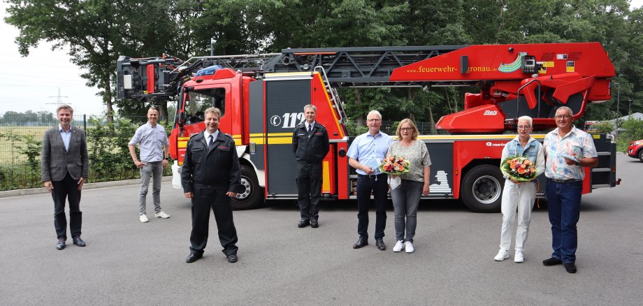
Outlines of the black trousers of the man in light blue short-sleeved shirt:
<svg viewBox="0 0 643 306">
<path fill-rule="evenodd" d="M 357 175 L 357 233 L 368 239 L 368 207 L 370 194 L 375 202 L 375 239 L 384 238 L 386 228 L 386 194 L 389 193 L 388 176 Z"/>
</svg>

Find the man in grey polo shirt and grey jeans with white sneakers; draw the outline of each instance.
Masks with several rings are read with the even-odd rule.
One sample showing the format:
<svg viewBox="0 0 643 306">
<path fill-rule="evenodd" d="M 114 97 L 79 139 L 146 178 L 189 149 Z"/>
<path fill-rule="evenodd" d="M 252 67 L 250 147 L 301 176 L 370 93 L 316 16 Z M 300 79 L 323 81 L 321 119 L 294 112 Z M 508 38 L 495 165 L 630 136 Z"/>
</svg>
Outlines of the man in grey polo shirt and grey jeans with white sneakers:
<svg viewBox="0 0 643 306">
<path fill-rule="evenodd" d="M 139 126 L 136 133 L 129 140 L 129 154 L 134 161 L 136 168 L 140 169 L 140 191 L 138 191 L 138 207 L 140 221 L 145 223 L 147 213 L 145 212 L 145 201 L 147 189 L 152 177 L 152 199 L 154 201 L 154 217 L 167 219 L 170 217 L 161 210 L 161 178 L 163 168 L 168 165 L 168 134 L 163 126 L 157 124 L 159 110 L 151 107 L 147 110 L 147 123 Z M 135 145 L 139 145 L 140 161 L 136 158 Z"/>
</svg>

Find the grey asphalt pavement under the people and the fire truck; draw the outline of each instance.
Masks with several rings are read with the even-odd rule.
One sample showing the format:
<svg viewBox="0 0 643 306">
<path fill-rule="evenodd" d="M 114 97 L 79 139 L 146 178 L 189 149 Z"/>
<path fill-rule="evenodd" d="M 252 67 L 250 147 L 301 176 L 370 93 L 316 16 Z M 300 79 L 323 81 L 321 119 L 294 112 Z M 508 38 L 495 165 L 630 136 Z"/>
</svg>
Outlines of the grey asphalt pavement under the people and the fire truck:
<svg viewBox="0 0 643 306">
<path fill-rule="evenodd" d="M 293 201 L 234 213 L 239 262 L 221 253 L 214 218 L 204 257 L 189 253 L 190 204 L 164 182 L 170 219 L 138 221 L 138 186 L 83 191 L 87 247 L 58 251 L 49 194 L 0 198 L 0 305 L 641 305 L 643 163 L 619 154 L 621 186 L 583 196 L 578 272 L 545 267 L 547 210 L 535 207 L 525 262 L 493 261 L 500 214 L 422 202 L 413 254 L 357 240 L 354 202 L 323 202 L 319 228 L 297 228 Z M 513 248 L 513 245 L 512 245 Z"/>
</svg>

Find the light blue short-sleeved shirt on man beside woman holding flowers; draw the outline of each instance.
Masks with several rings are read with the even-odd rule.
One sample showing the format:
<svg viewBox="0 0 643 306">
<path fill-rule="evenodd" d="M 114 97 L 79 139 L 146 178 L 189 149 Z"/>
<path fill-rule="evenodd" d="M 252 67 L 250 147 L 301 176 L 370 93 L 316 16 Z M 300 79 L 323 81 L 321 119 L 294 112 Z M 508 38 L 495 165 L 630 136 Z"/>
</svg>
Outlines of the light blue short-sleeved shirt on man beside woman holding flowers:
<svg viewBox="0 0 643 306">
<path fill-rule="evenodd" d="M 363 133 L 360 136 L 357 136 L 353 143 L 348 148 L 347 156 L 359 163 L 368 166 L 373 169 L 373 174 L 380 174 L 380 169 L 378 166 L 384 157 L 386 157 L 386 151 L 389 150 L 389 145 L 393 142 L 391 136 L 386 135 L 386 133 L 378 133 L 373 137 L 370 133 Z M 361 175 L 366 175 L 361 169 L 356 169 L 356 172 Z"/>
</svg>

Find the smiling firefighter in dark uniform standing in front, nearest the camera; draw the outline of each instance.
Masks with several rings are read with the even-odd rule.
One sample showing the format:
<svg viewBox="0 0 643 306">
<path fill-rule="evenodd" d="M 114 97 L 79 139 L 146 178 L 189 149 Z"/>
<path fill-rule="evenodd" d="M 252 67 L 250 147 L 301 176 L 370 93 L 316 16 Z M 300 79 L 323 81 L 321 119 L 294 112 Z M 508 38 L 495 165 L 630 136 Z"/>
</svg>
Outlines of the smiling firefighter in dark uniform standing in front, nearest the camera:
<svg viewBox="0 0 643 306">
<path fill-rule="evenodd" d="M 185 197 L 192 199 L 192 234 L 187 263 L 203 256 L 208 242 L 210 208 L 217 220 L 222 252 L 229 262 L 238 260 L 231 198 L 243 191 L 243 186 L 234 140 L 219 131 L 219 117 L 218 108 L 205 110 L 205 131 L 192 136 L 185 150 L 181 184 Z"/>
</svg>

